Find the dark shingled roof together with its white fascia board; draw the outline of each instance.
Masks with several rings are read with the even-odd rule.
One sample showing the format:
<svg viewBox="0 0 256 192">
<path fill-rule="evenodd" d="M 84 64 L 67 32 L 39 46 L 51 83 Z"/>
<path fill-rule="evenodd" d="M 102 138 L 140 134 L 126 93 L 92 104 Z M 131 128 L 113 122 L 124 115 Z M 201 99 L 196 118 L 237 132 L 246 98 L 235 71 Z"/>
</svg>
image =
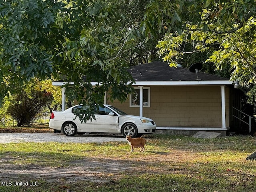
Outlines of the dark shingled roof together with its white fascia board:
<svg viewBox="0 0 256 192">
<path fill-rule="evenodd" d="M 152 63 L 132 66 L 128 72 L 135 80 L 134 86 L 151 86 L 151 85 L 231 85 L 232 82 L 223 77 L 198 72 L 190 72 L 183 67 L 170 67 L 167 63 L 155 61 Z M 84 76 L 86 81 L 86 76 Z M 72 83 L 72 82 L 71 82 Z M 92 85 L 98 84 L 91 82 Z M 128 82 L 130 83 L 130 82 Z M 64 81 L 54 82 L 53 85 L 61 86 Z"/>
</svg>

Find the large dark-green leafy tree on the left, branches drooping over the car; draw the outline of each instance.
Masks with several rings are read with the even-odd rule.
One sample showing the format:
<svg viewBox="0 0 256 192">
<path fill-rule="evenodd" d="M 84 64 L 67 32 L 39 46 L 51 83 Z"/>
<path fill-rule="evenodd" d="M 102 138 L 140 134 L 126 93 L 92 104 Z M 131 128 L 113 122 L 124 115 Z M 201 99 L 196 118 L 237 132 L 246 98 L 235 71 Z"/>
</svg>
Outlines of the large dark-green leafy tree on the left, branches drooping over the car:
<svg viewBox="0 0 256 192">
<path fill-rule="evenodd" d="M 66 3 L 65 3 L 66 2 Z M 86 108 L 124 101 L 132 91 L 132 77 L 120 57 L 132 47 L 136 26 L 122 25 L 124 1 L 5 0 L 0 4 L 0 99 L 34 77 L 64 76 L 66 95 Z M 84 82 L 86 76 L 86 82 Z M 93 87 L 91 81 L 98 82 Z M 79 113 L 79 112 L 78 112 Z M 80 114 L 80 113 L 79 113 Z M 89 114 L 89 115 L 88 115 Z"/>
</svg>

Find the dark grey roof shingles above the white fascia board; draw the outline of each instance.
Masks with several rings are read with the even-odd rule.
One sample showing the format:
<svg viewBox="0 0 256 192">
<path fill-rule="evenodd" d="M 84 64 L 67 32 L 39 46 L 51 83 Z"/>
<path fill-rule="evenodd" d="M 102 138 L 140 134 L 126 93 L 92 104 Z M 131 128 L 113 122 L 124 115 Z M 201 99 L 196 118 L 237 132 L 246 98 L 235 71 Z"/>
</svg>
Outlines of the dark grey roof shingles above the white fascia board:
<svg viewBox="0 0 256 192">
<path fill-rule="evenodd" d="M 198 81 L 196 73 L 183 67 L 170 67 L 167 63 L 155 61 L 148 64 L 132 66 L 128 70 L 138 81 Z M 226 81 L 227 78 L 198 72 L 200 81 Z"/>
</svg>

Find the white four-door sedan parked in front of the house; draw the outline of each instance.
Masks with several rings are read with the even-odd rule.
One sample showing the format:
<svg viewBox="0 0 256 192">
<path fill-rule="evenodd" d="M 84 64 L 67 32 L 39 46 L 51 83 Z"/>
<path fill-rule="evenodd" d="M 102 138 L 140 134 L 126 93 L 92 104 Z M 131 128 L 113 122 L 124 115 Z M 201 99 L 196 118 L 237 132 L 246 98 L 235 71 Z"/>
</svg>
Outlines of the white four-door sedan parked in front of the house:
<svg viewBox="0 0 256 192">
<path fill-rule="evenodd" d="M 82 105 L 76 105 L 63 112 L 52 112 L 49 127 L 62 131 L 66 136 L 94 132 L 122 133 L 124 137 L 130 135 L 134 138 L 156 131 L 156 124 L 152 119 L 128 115 L 111 105 L 99 107 L 99 110 L 95 110 L 96 120 L 81 124 L 78 117 L 74 120 L 74 110 L 81 107 Z"/>
</svg>

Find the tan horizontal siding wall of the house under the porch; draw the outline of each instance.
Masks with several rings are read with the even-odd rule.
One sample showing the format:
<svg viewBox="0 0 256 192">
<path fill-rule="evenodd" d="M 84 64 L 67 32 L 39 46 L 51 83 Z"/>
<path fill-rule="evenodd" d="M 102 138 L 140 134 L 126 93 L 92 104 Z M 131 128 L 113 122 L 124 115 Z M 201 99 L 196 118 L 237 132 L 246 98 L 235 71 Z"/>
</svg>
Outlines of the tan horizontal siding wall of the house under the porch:
<svg viewBox="0 0 256 192">
<path fill-rule="evenodd" d="M 229 91 L 225 87 L 226 126 L 229 126 Z M 138 107 L 129 100 L 113 103 L 128 114 L 139 115 Z M 157 126 L 222 127 L 220 86 L 151 86 L 150 107 L 143 116 L 152 118 Z"/>
</svg>

